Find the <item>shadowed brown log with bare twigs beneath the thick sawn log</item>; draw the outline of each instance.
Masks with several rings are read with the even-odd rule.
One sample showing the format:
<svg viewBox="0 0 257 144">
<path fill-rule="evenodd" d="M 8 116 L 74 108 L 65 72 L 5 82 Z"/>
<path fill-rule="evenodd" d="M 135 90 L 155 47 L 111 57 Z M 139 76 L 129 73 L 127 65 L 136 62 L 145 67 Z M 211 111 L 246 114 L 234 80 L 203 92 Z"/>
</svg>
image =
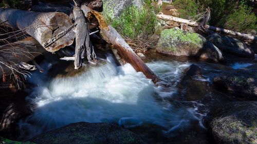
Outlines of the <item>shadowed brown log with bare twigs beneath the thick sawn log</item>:
<svg viewBox="0 0 257 144">
<path fill-rule="evenodd" d="M 21 61 L 27 63 L 43 52 L 45 49 L 32 37 L 0 46 L 0 80 L 4 75 L 19 74 Z"/>
</svg>

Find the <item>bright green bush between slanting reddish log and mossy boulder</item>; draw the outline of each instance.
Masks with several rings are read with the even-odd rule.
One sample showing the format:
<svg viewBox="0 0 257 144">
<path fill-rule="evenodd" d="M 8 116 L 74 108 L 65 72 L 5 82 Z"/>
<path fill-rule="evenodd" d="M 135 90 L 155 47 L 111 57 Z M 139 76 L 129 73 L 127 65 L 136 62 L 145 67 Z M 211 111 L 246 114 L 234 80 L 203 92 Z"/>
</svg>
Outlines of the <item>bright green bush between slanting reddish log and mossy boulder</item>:
<svg viewBox="0 0 257 144">
<path fill-rule="evenodd" d="M 135 39 L 139 35 L 154 34 L 157 20 L 151 7 L 145 5 L 140 10 L 135 6 L 124 10 L 111 23 L 123 36 Z"/>
</svg>

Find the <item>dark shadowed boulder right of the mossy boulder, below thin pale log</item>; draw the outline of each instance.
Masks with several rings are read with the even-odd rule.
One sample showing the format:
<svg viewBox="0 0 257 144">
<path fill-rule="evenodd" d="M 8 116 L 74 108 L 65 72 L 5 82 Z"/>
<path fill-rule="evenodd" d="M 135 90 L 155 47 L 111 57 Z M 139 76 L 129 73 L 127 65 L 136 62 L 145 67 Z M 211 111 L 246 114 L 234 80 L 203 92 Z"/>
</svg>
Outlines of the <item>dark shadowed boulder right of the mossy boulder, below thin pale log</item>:
<svg viewBox="0 0 257 144">
<path fill-rule="evenodd" d="M 215 33 L 209 35 L 207 39 L 224 54 L 254 59 L 253 50 L 236 38 Z"/>
</svg>

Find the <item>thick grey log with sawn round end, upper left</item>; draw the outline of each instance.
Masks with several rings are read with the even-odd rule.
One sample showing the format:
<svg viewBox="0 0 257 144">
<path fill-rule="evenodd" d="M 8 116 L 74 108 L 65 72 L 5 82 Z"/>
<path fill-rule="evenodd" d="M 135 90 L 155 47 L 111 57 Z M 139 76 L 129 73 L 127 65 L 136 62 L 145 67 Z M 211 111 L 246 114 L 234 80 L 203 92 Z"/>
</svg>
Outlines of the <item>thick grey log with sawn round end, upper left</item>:
<svg viewBox="0 0 257 144">
<path fill-rule="evenodd" d="M 60 12 L 31 12 L 0 9 L 0 23 L 23 30 L 49 52 L 57 51 L 74 42 L 75 33 L 68 15 Z"/>
</svg>

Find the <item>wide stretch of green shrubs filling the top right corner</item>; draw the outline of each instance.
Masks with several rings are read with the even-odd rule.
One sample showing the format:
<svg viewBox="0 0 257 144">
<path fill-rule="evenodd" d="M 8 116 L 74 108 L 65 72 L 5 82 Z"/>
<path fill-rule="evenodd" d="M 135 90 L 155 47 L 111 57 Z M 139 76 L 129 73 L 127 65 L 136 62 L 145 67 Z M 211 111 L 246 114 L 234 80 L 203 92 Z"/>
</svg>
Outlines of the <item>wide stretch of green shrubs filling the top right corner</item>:
<svg viewBox="0 0 257 144">
<path fill-rule="evenodd" d="M 189 18 L 197 13 L 211 9 L 209 24 L 239 32 L 256 31 L 257 18 L 246 0 L 177 0 L 174 5 L 179 8 L 182 18 Z"/>
</svg>

